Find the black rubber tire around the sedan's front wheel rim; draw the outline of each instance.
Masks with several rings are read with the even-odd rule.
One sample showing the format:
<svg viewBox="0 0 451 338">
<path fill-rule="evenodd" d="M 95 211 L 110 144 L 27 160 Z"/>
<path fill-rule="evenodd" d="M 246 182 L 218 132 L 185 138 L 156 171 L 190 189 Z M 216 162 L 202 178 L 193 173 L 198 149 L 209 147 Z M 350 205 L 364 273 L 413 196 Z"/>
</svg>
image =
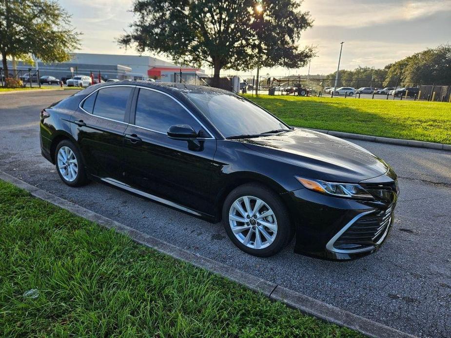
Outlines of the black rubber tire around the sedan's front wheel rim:
<svg viewBox="0 0 451 338">
<path fill-rule="evenodd" d="M 232 231 L 229 224 L 229 211 L 232 204 L 240 197 L 254 196 L 266 203 L 274 212 L 277 221 L 277 233 L 274 241 L 262 249 L 250 248 L 242 244 Z M 290 222 L 288 210 L 280 197 L 273 190 L 263 185 L 250 183 L 235 188 L 225 199 L 222 207 L 222 223 L 230 240 L 242 251 L 257 257 L 269 257 L 275 255 L 291 242 L 294 228 Z"/>
</svg>

